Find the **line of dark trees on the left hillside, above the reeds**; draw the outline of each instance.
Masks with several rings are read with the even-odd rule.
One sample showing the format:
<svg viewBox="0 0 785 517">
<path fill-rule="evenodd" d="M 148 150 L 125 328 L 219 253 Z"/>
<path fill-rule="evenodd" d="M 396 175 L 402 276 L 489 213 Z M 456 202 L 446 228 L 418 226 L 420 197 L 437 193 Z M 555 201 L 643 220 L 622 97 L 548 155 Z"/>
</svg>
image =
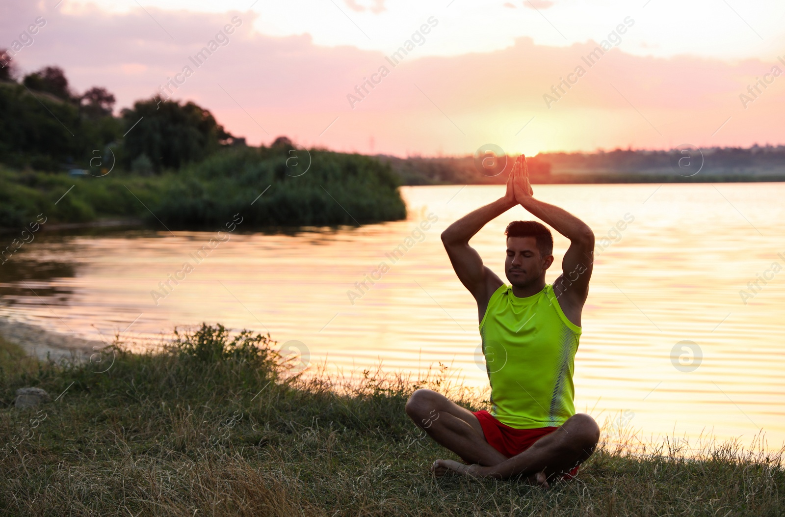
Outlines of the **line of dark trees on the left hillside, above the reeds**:
<svg viewBox="0 0 785 517">
<path fill-rule="evenodd" d="M 119 167 L 159 174 L 244 142 L 194 102 L 154 96 L 115 116 L 115 96 L 103 86 L 76 92 L 57 66 L 20 76 L 3 49 L 0 63 L 0 160 L 8 167 L 90 169 L 111 154 Z"/>
</svg>

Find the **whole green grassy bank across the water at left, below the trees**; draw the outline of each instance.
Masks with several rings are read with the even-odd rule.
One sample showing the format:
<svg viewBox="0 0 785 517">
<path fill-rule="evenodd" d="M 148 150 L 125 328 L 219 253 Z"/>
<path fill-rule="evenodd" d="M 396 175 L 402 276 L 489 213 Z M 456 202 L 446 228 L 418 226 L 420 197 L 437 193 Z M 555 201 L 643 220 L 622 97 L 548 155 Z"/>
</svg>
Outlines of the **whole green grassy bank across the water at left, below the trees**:
<svg viewBox="0 0 785 517">
<path fill-rule="evenodd" d="M 38 214 L 53 224 L 130 218 L 172 230 L 218 229 L 238 213 L 241 230 L 356 226 L 406 217 L 389 165 L 312 151 L 306 171 L 308 157 L 301 154 L 298 162 L 285 149 L 233 148 L 153 176 L 112 170 L 71 178 L 0 167 L 0 228 L 21 229 Z"/>
</svg>

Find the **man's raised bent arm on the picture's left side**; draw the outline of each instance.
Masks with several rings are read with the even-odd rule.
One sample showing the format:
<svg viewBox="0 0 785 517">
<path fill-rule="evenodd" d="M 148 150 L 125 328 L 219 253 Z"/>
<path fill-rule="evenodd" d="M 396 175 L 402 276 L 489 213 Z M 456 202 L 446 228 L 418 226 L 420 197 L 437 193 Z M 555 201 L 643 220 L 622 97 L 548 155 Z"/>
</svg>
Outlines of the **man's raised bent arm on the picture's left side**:
<svg viewBox="0 0 785 517">
<path fill-rule="evenodd" d="M 480 254 L 469 246 L 469 239 L 479 232 L 487 222 L 497 218 L 517 203 L 515 192 L 513 192 L 513 173 L 510 173 L 507 180 L 507 191 L 503 197 L 469 212 L 447 226 L 447 229 L 441 234 L 444 249 L 447 250 L 447 256 L 450 257 L 458 280 L 477 301 L 480 319 L 485 312 L 488 298 L 503 282 L 493 271 L 483 266 Z"/>
</svg>

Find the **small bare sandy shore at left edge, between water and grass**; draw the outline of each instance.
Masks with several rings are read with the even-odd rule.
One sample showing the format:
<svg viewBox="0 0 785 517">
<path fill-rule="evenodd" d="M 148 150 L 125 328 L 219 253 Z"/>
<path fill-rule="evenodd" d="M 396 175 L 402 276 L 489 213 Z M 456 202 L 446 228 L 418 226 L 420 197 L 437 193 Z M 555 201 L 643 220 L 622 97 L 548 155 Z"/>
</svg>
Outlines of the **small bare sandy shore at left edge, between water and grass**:
<svg viewBox="0 0 785 517">
<path fill-rule="evenodd" d="M 46 359 L 47 354 L 55 360 L 71 357 L 89 358 L 95 350 L 106 346 L 101 341 L 50 332 L 46 328 L 9 321 L 3 317 L 0 317 L 0 336 L 24 348 L 27 354 L 37 355 L 42 359 Z"/>
</svg>

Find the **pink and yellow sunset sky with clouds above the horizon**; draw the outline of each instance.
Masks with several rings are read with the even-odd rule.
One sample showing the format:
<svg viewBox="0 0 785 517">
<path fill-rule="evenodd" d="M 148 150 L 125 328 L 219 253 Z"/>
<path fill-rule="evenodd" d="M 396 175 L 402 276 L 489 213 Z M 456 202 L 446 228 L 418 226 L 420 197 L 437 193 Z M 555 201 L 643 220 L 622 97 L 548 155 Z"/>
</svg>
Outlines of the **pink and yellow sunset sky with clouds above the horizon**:
<svg viewBox="0 0 785 517">
<path fill-rule="evenodd" d="M 287 135 L 440 156 L 488 143 L 530 155 L 785 144 L 785 4 L 773 0 L 6 0 L 0 48 L 38 16 L 21 73 L 57 64 L 79 92 L 106 86 L 119 110 L 189 67 L 172 98 L 254 145 Z M 210 40 L 224 45 L 197 66 Z M 385 57 L 407 40 L 393 66 Z M 608 52 L 589 57 L 603 40 Z"/>
</svg>

